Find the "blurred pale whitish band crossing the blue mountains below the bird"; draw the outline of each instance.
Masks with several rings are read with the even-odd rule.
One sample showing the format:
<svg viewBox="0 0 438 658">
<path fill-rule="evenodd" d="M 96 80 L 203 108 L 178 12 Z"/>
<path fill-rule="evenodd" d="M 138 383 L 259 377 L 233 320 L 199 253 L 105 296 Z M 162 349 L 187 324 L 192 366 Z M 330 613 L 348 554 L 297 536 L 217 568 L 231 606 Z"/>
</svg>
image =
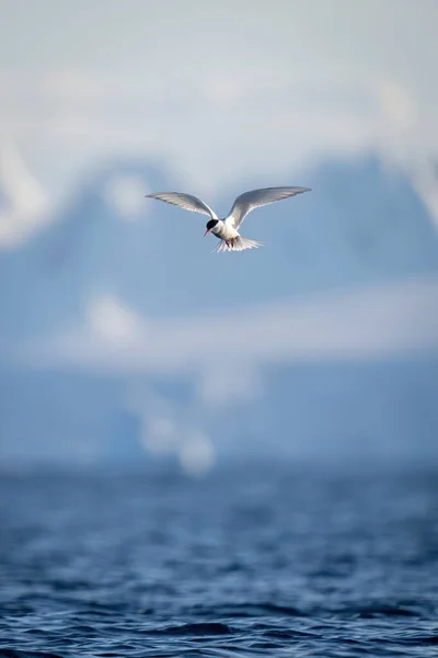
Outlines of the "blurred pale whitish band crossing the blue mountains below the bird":
<svg viewBox="0 0 438 658">
<path fill-rule="evenodd" d="M 228 404 L 247 386 L 256 394 L 253 371 L 266 364 L 438 351 L 436 277 L 172 320 L 146 321 L 113 296 L 90 309 L 83 326 L 22 345 L 18 356 L 27 365 L 72 370 L 197 372 L 205 401 L 216 397 Z"/>
</svg>

